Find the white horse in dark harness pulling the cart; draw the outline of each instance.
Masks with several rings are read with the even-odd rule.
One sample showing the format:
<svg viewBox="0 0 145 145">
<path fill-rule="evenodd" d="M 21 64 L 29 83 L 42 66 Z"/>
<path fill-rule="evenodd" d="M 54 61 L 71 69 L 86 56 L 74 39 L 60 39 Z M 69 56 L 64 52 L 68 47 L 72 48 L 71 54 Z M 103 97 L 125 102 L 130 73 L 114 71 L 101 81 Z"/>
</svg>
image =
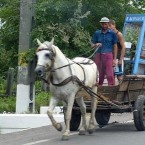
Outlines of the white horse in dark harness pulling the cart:
<svg viewBox="0 0 145 145">
<path fill-rule="evenodd" d="M 93 92 L 97 93 L 97 67 L 96 64 L 87 58 L 77 57 L 73 60 L 67 58 L 60 49 L 51 42 L 45 41 L 39 45 L 37 49 L 37 66 L 35 72 L 39 76 L 43 76 L 45 72 L 49 73 L 48 82 L 50 82 L 50 92 L 52 94 L 49 109 L 47 114 L 52 122 L 52 125 L 58 130 L 62 130 L 62 125 L 57 123 L 52 115 L 55 106 L 59 101 L 63 101 L 66 105 L 65 123 L 66 128 L 62 135 L 62 140 L 69 139 L 71 112 L 76 99 L 80 106 L 82 115 L 82 127 L 79 130 L 80 135 L 84 135 L 86 131 L 93 133 L 95 130 L 95 111 L 97 106 L 96 97 L 91 97 L 91 116 L 89 125 L 86 124 L 86 106 L 83 101 L 83 96 L 79 95 L 82 90 L 81 82 L 87 87 L 90 87 Z"/>
</svg>

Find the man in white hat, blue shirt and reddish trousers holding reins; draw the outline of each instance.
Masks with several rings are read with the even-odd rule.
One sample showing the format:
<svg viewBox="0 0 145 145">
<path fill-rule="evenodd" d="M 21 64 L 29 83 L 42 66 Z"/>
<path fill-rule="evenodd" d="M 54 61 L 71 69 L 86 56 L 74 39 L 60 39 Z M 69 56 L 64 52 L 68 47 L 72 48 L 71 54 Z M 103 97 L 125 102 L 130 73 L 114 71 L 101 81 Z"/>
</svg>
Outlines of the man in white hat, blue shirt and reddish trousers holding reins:
<svg viewBox="0 0 145 145">
<path fill-rule="evenodd" d="M 117 36 L 109 29 L 109 19 L 103 17 L 100 20 L 101 30 L 97 30 L 92 38 L 92 47 L 96 49 L 95 63 L 99 71 L 99 85 L 103 85 L 106 76 L 108 85 L 115 85 L 113 66 L 116 65 Z"/>
</svg>

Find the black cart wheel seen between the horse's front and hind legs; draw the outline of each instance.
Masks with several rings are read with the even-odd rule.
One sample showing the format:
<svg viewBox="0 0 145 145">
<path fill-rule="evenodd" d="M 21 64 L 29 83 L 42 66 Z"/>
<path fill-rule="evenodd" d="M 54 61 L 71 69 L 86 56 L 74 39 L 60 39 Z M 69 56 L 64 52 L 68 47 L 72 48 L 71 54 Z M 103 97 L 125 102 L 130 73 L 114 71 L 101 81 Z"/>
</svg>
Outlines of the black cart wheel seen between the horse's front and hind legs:
<svg viewBox="0 0 145 145">
<path fill-rule="evenodd" d="M 64 120 L 65 120 L 65 112 L 64 112 Z M 70 120 L 70 131 L 77 131 L 80 126 L 80 122 L 81 122 L 81 112 L 78 110 L 72 110 L 72 115 Z"/>
</svg>

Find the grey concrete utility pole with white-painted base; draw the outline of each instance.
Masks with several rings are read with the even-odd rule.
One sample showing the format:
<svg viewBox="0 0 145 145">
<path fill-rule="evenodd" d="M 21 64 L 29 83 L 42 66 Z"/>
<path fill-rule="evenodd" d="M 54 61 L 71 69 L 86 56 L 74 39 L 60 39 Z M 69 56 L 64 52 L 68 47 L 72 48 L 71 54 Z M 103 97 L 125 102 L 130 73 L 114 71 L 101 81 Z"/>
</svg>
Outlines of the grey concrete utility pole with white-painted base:
<svg viewBox="0 0 145 145">
<path fill-rule="evenodd" d="M 31 48 L 31 29 L 36 0 L 20 1 L 19 60 L 17 78 L 16 113 L 35 111 L 34 63 L 22 61 L 23 54 Z"/>
</svg>

